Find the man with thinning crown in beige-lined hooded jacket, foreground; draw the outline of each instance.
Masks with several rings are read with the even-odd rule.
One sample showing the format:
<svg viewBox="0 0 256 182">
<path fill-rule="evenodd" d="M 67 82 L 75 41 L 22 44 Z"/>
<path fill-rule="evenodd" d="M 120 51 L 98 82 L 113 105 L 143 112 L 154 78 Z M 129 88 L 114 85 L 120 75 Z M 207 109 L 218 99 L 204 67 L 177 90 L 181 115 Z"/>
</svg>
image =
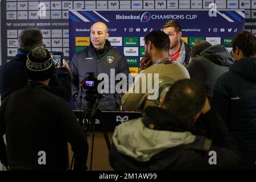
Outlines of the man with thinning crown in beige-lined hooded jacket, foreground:
<svg viewBox="0 0 256 182">
<path fill-rule="evenodd" d="M 193 125 L 199 117 L 205 131 Z M 238 169 L 241 163 L 203 86 L 188 79 L 176 81 L 143 118 L 117 126 L 109 158 L 116 170 Z"/>
</svg>

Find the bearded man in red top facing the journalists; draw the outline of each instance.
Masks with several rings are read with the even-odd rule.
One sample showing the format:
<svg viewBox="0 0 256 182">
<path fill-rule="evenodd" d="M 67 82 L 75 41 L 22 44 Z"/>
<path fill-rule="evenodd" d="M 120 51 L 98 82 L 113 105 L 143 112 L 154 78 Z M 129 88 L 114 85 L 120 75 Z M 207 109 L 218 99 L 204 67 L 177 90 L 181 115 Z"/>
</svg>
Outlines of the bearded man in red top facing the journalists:
<svg viewBox="0 0 256 182">
<path fill-rule="evenodd" d="M 191 48 L 182 39 L 182 27 L 175 20 L 168 20 L 163 25 L 163 31 L 169 36 L 170 50 L 169 56 L 174 57 L 180 64 L 188 64 Z"/>
</svg>

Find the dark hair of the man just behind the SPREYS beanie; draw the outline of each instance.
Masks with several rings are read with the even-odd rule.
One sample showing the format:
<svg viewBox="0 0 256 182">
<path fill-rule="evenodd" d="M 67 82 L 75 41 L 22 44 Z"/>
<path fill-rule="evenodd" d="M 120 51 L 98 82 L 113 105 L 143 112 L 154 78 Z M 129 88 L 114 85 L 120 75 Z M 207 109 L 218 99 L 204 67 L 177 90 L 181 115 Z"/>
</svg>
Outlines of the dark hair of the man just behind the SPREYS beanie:
<svg viewBox="0 0 256 182">
<path fill-rule="evenodd" d="M 43 34 L 38 28 L 27 28 L 19 35 L 19 49 L 31 51 L 43 44 Z"/>
</svg>

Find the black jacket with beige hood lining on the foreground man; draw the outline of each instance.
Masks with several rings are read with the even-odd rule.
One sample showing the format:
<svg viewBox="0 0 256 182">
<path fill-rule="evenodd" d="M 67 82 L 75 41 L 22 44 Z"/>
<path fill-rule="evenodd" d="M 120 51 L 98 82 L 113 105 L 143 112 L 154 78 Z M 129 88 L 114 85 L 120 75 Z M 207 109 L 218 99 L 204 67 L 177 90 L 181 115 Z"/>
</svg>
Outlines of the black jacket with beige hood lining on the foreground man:
<svg viewBox="0 0 256 182">
<path fill-rule="evenodd" d="M 115 170 L 237 169 L 236 144 L 216 112 L 201 117 L 206 132 L 182 122 L 159 107 L 147 107 L 143 118 L 117 126 L 110 148 Z M 214 129 L 213 129 L 214 128 Z M 217 153 L 210 165 L 209 151 Z"/>
</svg>

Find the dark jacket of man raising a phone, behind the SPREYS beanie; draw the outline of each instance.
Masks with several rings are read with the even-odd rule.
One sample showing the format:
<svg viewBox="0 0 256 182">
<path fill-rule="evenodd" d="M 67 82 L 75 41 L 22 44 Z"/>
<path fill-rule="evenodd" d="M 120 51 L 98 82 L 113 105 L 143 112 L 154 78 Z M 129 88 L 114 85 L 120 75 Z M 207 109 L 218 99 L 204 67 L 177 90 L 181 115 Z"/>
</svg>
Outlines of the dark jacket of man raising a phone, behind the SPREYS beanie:
<svg viewBox="0 0 256 182">
<path fill-rule="evenodd" d="M 1 101 L 21 89 L 27 84 L 25 72 L 27 53 L 18 53 L 13 60 L 0 66 L 0 94 Z M 71 99 L 71 77 L 67 68 L 57 68 L 49 81 L 51 92 L 64 98 Z"/>
</svg>

